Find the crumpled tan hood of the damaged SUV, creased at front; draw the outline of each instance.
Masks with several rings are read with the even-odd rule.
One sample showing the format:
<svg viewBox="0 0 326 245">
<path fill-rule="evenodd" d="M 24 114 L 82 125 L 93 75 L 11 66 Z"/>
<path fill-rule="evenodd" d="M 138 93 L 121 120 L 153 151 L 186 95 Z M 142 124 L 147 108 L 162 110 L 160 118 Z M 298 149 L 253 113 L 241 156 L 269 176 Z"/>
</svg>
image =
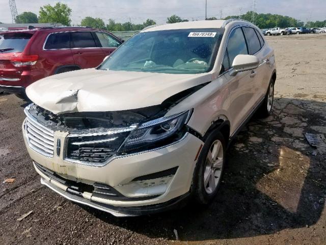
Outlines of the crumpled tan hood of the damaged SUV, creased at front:
<svg viewBox="0 0 326 245">
<path fill-rule="evenodd" d="M 35 104 L 55 114 L 122 111 L 159 105 L 211 78 L 211 74 L 84 69 L 41 79 L 28 86 L 26 94 Z"/>
</svg>

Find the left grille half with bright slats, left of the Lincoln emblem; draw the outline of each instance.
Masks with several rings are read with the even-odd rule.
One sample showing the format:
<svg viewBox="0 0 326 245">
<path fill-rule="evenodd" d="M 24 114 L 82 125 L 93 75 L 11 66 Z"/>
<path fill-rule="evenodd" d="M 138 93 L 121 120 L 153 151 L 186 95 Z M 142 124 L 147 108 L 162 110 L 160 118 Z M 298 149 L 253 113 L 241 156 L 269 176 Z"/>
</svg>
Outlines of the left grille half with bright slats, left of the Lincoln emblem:
<svg viewBox="0 0 326 245">
<path fill-rule="evenodd" d="M 43 156 L 53 157 L 54 132 L 29 117 L 25 119 L 24 128 L 29 146 Z"/>
</svg>

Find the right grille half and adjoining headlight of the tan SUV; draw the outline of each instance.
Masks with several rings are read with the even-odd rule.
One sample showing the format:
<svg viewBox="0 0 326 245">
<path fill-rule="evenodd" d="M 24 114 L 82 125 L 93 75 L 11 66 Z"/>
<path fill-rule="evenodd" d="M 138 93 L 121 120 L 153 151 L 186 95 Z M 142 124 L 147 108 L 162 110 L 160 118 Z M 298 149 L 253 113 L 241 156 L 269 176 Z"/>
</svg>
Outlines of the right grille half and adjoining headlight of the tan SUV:
<svg viewBox="0 0 326 245">
<path fill-rule="evenodd" d="M 70 134 L 65 159 L 88 165 L 103 165 L 115 156 L 152 150 L 177 142 L 187 132 L 184 125 L 192 110 L 131 125 L 128 128 L 88 134 Z"/>
</svg>

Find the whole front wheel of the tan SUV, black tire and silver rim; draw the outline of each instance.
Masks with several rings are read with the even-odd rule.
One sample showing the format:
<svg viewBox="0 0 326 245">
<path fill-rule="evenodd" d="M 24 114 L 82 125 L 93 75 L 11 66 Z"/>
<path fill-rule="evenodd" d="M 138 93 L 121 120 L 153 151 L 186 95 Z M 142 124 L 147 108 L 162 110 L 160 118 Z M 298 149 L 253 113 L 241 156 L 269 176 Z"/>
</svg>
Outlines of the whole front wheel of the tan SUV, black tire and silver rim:
<svg viewBox="0 0 326 245">
<path fill-rule="evenodd" d="M 226 162 L 226 148 L 226 139 L 218 129 L 213 130 L 206 137 L 195 167 L 191 187 L 192 198 L 199 205 L 209 204 L 218 192 Z M 214 151 L 216 154 L 213 154 Z M 216 158 L 209 158 L 209 154 L 216 156 Z M 213 159 L 215 169 L 208 158 Z M 207 182 L 206 185 L 204 181 Z"/>
</svg>

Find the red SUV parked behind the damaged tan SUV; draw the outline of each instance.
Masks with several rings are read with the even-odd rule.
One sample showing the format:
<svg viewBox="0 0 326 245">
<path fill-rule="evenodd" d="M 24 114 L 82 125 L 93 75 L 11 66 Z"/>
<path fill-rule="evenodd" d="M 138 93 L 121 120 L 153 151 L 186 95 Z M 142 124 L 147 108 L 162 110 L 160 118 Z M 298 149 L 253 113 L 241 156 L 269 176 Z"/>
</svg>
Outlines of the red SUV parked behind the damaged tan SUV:
<svg viewBox="0 0 326 245">
<path fill-rule="evenodd" d="M 91 28 L 40 28 L 0 33 L 0 90 L 25 97 L 31 83 L 98 66 L 123 41 Z"/>
</svg>

